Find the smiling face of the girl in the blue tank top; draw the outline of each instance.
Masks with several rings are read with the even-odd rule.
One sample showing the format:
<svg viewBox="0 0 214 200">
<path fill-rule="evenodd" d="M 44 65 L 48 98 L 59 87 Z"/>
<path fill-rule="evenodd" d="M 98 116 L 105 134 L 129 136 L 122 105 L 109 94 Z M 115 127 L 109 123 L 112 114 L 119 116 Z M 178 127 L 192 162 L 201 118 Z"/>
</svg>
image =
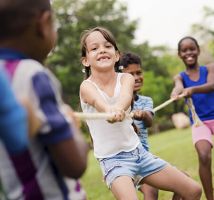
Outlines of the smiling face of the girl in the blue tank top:
<svg viewBox="0 0 214 200">
<path fill-rule="evenodd" d="M 200 49 L 191 38 L 183 39 L 180 42 L 178 55 L 187 67 L 196 67 L 198 65 L 199 54 Z"/>
</svg>

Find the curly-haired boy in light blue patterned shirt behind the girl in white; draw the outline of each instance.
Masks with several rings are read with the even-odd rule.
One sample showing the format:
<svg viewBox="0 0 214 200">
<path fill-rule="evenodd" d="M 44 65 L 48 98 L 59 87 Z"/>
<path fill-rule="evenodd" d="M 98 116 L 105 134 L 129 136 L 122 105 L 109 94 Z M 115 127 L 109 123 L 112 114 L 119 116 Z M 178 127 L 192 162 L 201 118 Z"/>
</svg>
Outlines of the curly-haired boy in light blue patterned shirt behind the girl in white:
<svg viewBox="0 0 214 200">
<path fill-rule="evenodd" d="M 143 73 L 141 68 L 141 59 L 133 53 L 124 53 L 120 58 L 120 70 L 124 73 L 130 73 L 135 79 L 132 112 L 134 113 L 134 124 L 138 128 L 138 136 L 145 150 L 149 151 L 148 127 L 151 127 L 154 111 L 153 100 L 150 97 L 139 95 L 138 92 L 143 85 Z M 158 190 L 150 185 L 143 184 L 139 186 L 144 199 L 158 199 Z"/>
</svg>

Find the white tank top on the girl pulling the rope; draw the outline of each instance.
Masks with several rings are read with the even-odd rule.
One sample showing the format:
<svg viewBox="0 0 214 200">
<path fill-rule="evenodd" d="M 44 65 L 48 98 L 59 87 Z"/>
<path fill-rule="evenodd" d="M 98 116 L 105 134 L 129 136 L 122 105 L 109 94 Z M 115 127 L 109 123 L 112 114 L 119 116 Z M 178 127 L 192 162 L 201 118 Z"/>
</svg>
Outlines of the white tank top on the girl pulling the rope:
<svg viewBox="0 0 214 200">
<path fill-rule="evenodd" d="M 114 104 L 117 102 L 120 94 L 121 83 L 120 79 L 122 73 L 117 74 L 117 82 L 114 89 L 114 95 L 109 97 L 103 92 L 94 82 L 91 80 L 85 80 L 91 82 L 101 94 L 103 99 L 108 104 Z M 83 112 L 95 113 L 97 110 L 91 105 L 84 103 L 81 100 L 81 107 Z M 129 112 L 131 107 L 129 108 Z M 94 155 L 96 158 L 106 158 L 114 156 L 122 151 L 131 151 L 135 149 L 140 143 L 137 134 L 132 126 L 132 119 L 126 118 L 122 122 L 109 123 L 106 120 L 87 120 L 86 121 L 94 145 Z"/>
</svg>

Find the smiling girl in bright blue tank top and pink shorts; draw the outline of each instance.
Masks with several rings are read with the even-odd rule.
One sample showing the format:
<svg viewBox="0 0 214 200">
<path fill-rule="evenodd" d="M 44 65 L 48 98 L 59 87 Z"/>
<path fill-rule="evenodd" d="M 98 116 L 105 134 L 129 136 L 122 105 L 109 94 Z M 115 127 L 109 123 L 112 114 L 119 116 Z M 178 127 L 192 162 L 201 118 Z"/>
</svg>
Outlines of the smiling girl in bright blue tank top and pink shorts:
<svg viewBox="0 0 214 200">
<path fill-rule="evenodd" d="M 178 43 L 178 56 L 186 70 L 174 78 L 175 87 L 171 97 L 178 95 L 191 97 L 196 113 L 204 125 L 192 126 L 192 139 L 199 160 L 199 175 L 207 200 L 213 200 L 213 183 L 211 170 L 211 150 L 214 133 L 214 64 L 200 66 L 198 56 L 200 48 L 193 37 L 184 37 Z M 190 120 L 193 124 L 192 116 Z"/>
</svg>

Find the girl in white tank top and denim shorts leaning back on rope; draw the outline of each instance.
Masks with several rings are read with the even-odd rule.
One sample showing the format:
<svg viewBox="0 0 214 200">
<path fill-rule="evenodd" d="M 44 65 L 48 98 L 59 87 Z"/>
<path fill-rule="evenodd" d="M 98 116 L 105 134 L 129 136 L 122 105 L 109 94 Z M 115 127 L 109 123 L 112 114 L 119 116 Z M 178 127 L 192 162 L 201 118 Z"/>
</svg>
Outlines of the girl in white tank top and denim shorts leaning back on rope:
<svg viewBox="0 0 214 200">
<path fill-rule="evenodd" d="M 136 175 L 143 182 L 164 190 L 175 191 L 187 200 L 200 199 L 200 186 L 160 158 L 155 158 L 140 144 L 125 118 L 130 111 L 134 78 L 116 73 L 119 51 L 112 34 L 101 27 L 84 32 L 81 38 L 82 64 L 91 74 L 80 86 L 83 112 L 107 112 L 106 120 L 87 120 L 107 186 L 116 199 L 138 199 L 133 184 Z"/>
</svg>

